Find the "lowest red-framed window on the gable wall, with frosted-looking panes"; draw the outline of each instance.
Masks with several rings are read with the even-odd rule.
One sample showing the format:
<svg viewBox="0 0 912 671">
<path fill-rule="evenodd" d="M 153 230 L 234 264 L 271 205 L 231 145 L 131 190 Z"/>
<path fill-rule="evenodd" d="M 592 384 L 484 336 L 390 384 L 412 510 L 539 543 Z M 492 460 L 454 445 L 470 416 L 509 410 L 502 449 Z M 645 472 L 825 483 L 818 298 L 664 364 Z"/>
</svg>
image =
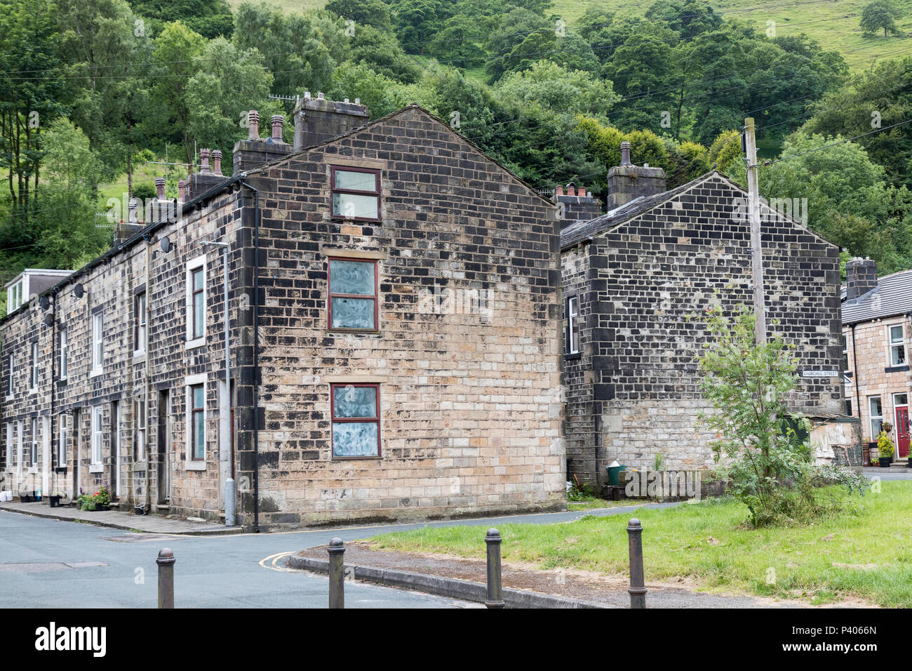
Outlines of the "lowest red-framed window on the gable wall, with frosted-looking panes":
<svg viewBox="0 0 912 671">
<path fill-rule="evenodd" d="M 380 456 L 380 385 L 329 385 L 334 459 Z"/>
</svg>

